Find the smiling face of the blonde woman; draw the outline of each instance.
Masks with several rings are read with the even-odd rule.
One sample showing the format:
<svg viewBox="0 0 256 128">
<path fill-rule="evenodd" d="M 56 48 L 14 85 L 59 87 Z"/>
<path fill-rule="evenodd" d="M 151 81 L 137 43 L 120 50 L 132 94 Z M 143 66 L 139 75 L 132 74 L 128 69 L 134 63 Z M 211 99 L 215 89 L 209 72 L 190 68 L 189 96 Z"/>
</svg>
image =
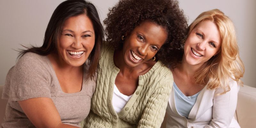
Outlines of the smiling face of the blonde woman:
<svg viewBox="0 0 256 128">
<path fill-rule="evenodd" d="M 218 54 L 220 47 L 219 29 L 214 22 L 205 20 L 190 32 L 184 45 L 183 61 L 185 60 L 189 65 L 202 66 L 204 62 Z"/>
</svg>

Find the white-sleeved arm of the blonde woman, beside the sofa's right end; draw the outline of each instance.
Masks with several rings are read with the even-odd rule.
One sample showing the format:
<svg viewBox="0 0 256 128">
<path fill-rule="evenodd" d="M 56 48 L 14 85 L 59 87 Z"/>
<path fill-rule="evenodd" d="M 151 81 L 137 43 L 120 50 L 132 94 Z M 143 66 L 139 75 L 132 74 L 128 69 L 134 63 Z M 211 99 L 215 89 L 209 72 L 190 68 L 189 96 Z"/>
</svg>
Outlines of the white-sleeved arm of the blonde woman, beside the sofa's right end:
<svg viewBox="0 0 256 128">
<path fill-rule="evenodd" d="M 238 91 L 239 85 L 236 81 L 231 81 L 229 92 L 213 97 L 212 120 L 205 128 L 224 128 L 230 125 L 236 111 Z M 215 94 L 221 92 L 222 89 L 217 89 Z"/>
</svg>

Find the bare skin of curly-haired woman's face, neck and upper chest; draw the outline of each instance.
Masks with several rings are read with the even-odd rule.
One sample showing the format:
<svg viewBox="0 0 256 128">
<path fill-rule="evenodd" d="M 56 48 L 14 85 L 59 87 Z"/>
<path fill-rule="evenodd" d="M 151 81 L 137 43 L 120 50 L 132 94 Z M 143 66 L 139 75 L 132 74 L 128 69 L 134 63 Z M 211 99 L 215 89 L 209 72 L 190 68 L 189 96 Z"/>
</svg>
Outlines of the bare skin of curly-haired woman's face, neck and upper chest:
<svg viewBox="0 0 256 128">
<path fill-rule="evenodd" d="M 156 63 L 151 60 L 167 38 L 167 32 L 151 21 L 144 21 L 124 39 L 123 49 L 114 53 L 114 63 L 120 72 L 116 87 L 124 95 L 132 95 L 138 86 L 138 77 L 147 73 Z M 131 51 L 141 60 L 134 59 Z"/>
</svg>

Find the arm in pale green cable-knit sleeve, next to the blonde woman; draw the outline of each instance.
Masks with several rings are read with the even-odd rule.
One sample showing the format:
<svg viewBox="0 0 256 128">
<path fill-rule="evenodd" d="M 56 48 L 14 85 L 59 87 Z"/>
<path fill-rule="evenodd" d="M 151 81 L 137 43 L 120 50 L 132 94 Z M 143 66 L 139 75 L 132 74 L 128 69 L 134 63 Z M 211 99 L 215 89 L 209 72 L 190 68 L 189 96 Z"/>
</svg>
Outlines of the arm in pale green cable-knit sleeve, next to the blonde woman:
<svg viewBox="0 0 256 128">
<path fill-rule="evenodd" d="M 172 87 L 170 82 L 165 84 L 167 84 L 164 86 L 166 88 L 158 88 L 148 99 L 138 128 L 159 128 L 161 126 Z"/>
</svg>

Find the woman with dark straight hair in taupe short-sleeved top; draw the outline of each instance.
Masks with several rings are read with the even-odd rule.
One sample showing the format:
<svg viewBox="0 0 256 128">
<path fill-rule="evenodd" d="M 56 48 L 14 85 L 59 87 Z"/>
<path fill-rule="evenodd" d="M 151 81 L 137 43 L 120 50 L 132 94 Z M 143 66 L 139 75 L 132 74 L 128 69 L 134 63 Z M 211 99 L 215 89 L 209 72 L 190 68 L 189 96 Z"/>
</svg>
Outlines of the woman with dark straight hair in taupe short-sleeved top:
<svg viewBox="0 0 256 128">
<path fill-rule="evenodd" d="M 81 127 L 90 111 L 103 38 L 93 4 L 62 2 L 48 23 L 43 45 L 21 50 L 6 76 L 2 127 Z"/>
</svg>

